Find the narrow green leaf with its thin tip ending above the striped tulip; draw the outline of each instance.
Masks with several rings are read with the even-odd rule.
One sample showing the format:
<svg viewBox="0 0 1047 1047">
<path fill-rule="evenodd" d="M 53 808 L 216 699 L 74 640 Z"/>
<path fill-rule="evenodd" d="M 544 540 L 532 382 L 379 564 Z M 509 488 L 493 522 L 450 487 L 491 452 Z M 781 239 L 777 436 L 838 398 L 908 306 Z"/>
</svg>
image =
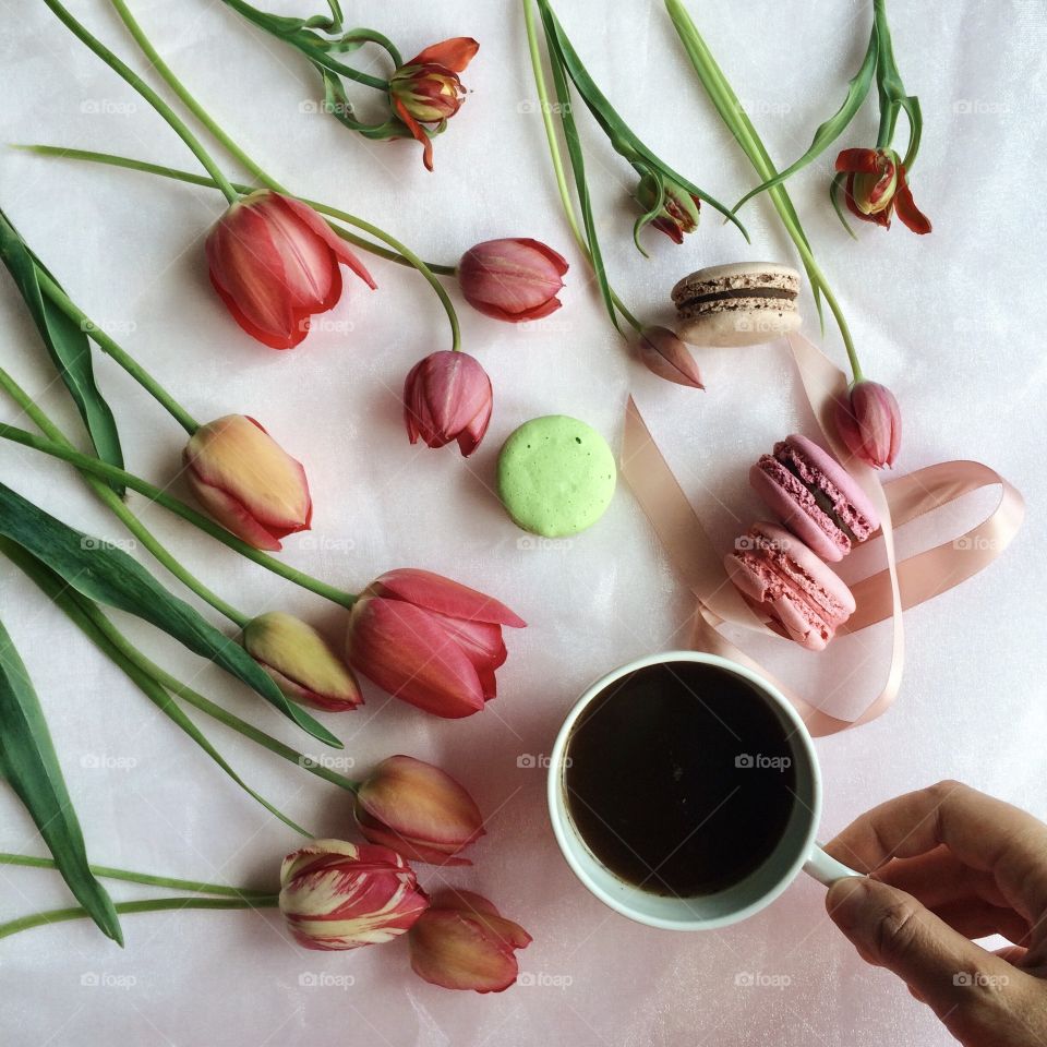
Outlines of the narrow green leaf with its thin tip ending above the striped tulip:
<svg viewBox="0 0 1047 1047">
<path fill-rule="evenodd" d="M 221 754 L 207 741 L 204 733 L 185 714 L 185 711 L 168 694 L 167 689 L 147 672 L 128 658 L 124 649 L 130 647 L 128 640 L 117 627 L 103 614 L 101 609 L 80 595 L 49 567 L 45 566 L 35 556 L 29 555 L 21 545 L 0 539 L 0 552 L 3 552 L 16 567 L 19 567 L 39 589 L 62 611 L 77 628 L 89 639 L 110 661 L 112 661 L 128 678 L 178 727 L 185 732 L 217 765 L 221 768 L 249 796 L 256 799 L 269 814 L 275 815 L 286 826 L 303 837 L 312 835 L 297 822 L 292 821 L 277 807 L 251 789 L 242 778 L 226 762 Z M 122 649 L 123 648 L 123 649 Z"/>
</svg>

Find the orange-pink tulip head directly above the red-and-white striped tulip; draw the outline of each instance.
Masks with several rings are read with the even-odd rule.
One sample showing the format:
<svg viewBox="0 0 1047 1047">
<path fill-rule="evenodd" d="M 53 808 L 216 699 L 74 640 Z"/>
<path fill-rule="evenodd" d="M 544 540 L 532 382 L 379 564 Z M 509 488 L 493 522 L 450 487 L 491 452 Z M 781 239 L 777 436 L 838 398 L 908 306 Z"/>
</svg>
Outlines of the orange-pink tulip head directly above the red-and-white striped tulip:
<svg viewBox="0 0 1047 1047">
<path fill-rule="evenodd" d="M 410 756 L 383 760 L 357 792 L 360 831 L 412 862 L 471 865 L 455 857 L 483 835 L 472 797 L 438 767 Z"/>
</svg>

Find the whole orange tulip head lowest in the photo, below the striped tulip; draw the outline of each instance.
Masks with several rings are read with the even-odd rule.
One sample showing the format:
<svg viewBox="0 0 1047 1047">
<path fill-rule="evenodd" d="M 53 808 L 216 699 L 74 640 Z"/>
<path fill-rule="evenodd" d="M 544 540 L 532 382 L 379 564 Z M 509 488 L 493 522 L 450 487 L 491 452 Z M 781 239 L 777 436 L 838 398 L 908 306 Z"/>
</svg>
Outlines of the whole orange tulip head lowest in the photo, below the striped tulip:
<svg viewBox="0 0 1047 1047">
<path fill-rule="evenodd" d="M 445 989 L 501 992 L 516 982 L 531 936 L 472 891 L 442 891 L 408 935 L 414 973 Z"/>
</svg>

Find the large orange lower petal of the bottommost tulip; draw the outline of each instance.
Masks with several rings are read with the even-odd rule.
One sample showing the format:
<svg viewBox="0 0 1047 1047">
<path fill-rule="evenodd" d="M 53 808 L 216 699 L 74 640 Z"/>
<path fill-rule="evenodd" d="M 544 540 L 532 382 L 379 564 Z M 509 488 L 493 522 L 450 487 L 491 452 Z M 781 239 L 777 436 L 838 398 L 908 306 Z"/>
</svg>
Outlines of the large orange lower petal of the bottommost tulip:
<svg viewBox="0 0 1047 1047">
<path fill-rule="evenodd" d="M 519 974 L 513 950 L 460 912 L 430 910 L 417 920 L 409 940 L 414 973 L 447 989 L 501 992 Z"/>
</svg>

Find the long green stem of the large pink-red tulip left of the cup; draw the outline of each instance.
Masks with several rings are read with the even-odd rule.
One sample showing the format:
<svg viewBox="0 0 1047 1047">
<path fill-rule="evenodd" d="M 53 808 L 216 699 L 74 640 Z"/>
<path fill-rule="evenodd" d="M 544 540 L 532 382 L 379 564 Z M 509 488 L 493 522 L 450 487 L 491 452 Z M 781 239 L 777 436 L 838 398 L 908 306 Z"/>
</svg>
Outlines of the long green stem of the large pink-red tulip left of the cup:
<svg viewBox="0 0 1047 1047">
<path fill-rule="evenodd" d="M 15 397 L 15 399 L 19 400 L 20 406 L 25 406 L 22 402 L 21 397 L 12 392 L 13 387 L 14 389 L 17 389 L 19 393 L 22 393 L 21 388 L 15 386 L 11 376 L 3 371 L 0 371 L 0 386 Z M 32 404 L 33 401 L 29 400 L 28 402 Z M 33 407 L 36 408 L 36 405 L 33 405 Z M 37 436 L 34 433 L 26 432 L 25 430 L 19 429 L 14 425 L 4 424 L 0 424 L 0 437 L 3 440 L 10 440 L 16 444 L 22 444 L 23 447 L 32 447 L 34 450 L 39 450 L 43 454 L 50 455 L 53 458 L 61 458 L 63 461 L 68 461 L 70 465 L 75 466 L 81 472 L 87 473 L 88 478 L 97 478 L 99 480 L 118 480 L 130 490 L 137 491 L 139 494 L 145 495 L 149 502 L 155 502 L 157 505 L 163 505 L 164 508 L 169 513 L 180 516 L 183 520 L 186 520 L 194 527 L 200 528 L 200 530 L 209 534 L 212 538 L 217 539 L 224 545 L 228 545 L 229 549 L 233 550 L 233 552 L 240 553 L 241 556 L 245 556 L 248 559 L 253 559 L 256 564 L 258 564 L 258 566 L 265 567 L 267 570 L 272 570 L 275 575 L 279 575 L 281 578 L 292 581 L 294 585 L 301 586 L 303 589 L 309 589 L 310 592 L 315 592 L 317 597 L 323 597 L 326 600 L 330 600 L 332 603 L 337 603 L 339 606 L 346 609 L 351 609 L 357 602 L 358 597 L 356 593 L 346 592 L 344 589 L 329 586 L 327 582 L 321 581 L 318 578 L 314 578 L 312 575 L 308 575 L 303 570 L 298 570 L 296 567 L 291 567 L 288 564 L 277 559 L 275 556 L 269 556 L 268 553 L 263 553 L 253 545 L 249 545 L 242 539 L 237 538 L 236 534 L 227 531 L 224 527 L 221 527 L 221 525 L 216 524 L 213 519 L 210 519 L 210 517 L 204 516 L 203 513 L 197 513 L 196 509 L 194 509 L 191 505 L 186 505 L 180 498 L 176 498 L 173 495 L 168 494 L 163 489 L 149 483 L 148 480 L 143 480 L 133 472 L 128 472 L 125 469 L 111 466 L 109 462 L 101 461 L 99 458 L 93 458 L 91 455 L 82 454 L 64 440 L 62 434 L 50 423 L 50 420 L 47 418 L 47 416 L 39 411 L 39 408 L 36 408 L 36 412 L 38 417 L 31 416 L 31 418 L 33 418 L 33 421 L 40 428 L 41 431 L 47 433 L 48 438 Z M 44 429 L 41 420 L 49 426 L 49 430 Z M 105 484 L 103 484 L 103 486 L 105 490 L 109 490 L 109 488 Z M 116 497 L 116 495 L 113 495 L 113 497 Z M 120 500 L 117 498 L 117 501 L 119 502 Z M 124 508 L 127 508 L 127 506 L 124 506 Z M 130 513 L 130 510 L 128 512 Z M 243 626 L 246 625 L 249 618 L 238 613 L 233 621 L 237 622 L 238 625 Z"/>
</svg>

